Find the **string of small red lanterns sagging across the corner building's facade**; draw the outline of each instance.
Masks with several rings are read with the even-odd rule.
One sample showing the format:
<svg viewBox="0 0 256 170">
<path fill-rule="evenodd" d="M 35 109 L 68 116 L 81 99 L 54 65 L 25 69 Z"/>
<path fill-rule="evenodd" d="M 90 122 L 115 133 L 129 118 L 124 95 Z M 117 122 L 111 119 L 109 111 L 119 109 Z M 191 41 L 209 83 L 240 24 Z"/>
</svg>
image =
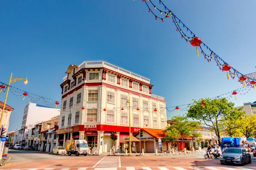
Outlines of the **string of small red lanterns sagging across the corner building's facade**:
<svg viewBox="0 0 256 170">
<path fill-rule="evenodd" d="M 5 85 L 3 82 L 0 82 L 0 92 L 3 91 L 3 92 L 6 92 L 6 86 L 8 85 Z M 37 101 L 44 101 L 44 103 L 47 105 L 47 106 L 55 106 L 55 108 L 57 108 L 58 106 L 61 107 L 61 108 L 66 108 L 67 107 L 67 104 L 64 105 L 63 103 L 61 103 L 61 101 L 56 101 L 56 100 L 53 100 L 53 99 L 50 99 L 50 98 L 45 98 L 43 96 L 40 96 L 40 95 L 35 95 L 33 93 L 30 93 L 30 92 L 26 92 L 22 89 L 18 89 L 16 87 L 13 87 L 13 86 L 10 86 L 9 89 L 11 90 L 12 94 L 13 95 L 16 95 L 17 97 L 18 96 L 23 96 L 23 100 L 28 97 L 31 101 L 34 101 L 34 102 L 37 102 Z M 215 96 L 213 98 L 210 98 L 210 99 L 214 99 L 214 98 L 224 98 L 226 97 L 228 100 L 230 98 L 232 98 L 232 96 L 235 96 L 236 98 L 236 95 L 237 94 L 246 94 L 250 91 L 251 87 L 241 87 L 239 89 L 236 89 L 236 90 L 233 90 L 231 92 L 227 92 L 227 93 L 224 93 L 222 95 L 218 95 L 218 96 Z M 237 98 L 236 98 L 237 99 Z M 170 107 L 160 107 L 160 108 L 156 108 L 156 107 L 153 107 L 153 108 L 148 108 L 146 109 L 147 111 L 149 112 L 157 112 L 159 110 L 162 110 L 162 109 L 166 109 L 166 111 L 168 112 L 173 112 L 173 111 L 177 111 L 178 110 L 181 110 L 181 111 L 186 111 L 193 103 L 189 103 L 189 104 L 183 104 L 183 105 L 178 105 L 178 106 L 170 106 Z M 202 102 L 202 105 L 204 105 L 205 102 Z M 71 107 L 72 109 L 78 111 L 78 110 L 83 110 L 84 109 L 98 109 L 100 112 L 103 111 L 103 112 L 106 112 L 108 109 L 115 109 L 115 110 L 119 110 L 120 112 L 122 111 L 127 111 L 127 109 L 129 108 L 128 106 L 124 106 L 124 107 L 109 107 L 109 108 L 95 108 L 95 107 L 84 107 L 84 106 L 81 106 L 81 105 L 73 105 Z M 143 107 L 131 107 L 132 110 L 136 110 L 137 112 L 143 112 L 143 110 L 145 110 L 145 108 Z"/>
</svg>

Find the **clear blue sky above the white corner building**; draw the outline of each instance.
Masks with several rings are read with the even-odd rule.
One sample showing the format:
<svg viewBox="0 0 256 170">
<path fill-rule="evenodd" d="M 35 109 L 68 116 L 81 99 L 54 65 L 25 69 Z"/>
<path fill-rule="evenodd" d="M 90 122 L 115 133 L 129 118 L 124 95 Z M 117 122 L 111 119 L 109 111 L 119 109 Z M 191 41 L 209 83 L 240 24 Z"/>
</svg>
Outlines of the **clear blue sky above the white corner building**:
<svg viewBox="0 0 256 170">
<path fill-rule="evenodd" d="M 256 72 L 255 0 L 163 2 L 227 63 L 243 74 Z M 7 83 L 11 72 L 28 77 L 26 86 L 14 86 L 47 98 L 60 101 L 67 67 L 85 60 L 109 61 L 150 78 L 152 92 L 166 97 L 166 106 L 242 86 L 227 80 L 214 62 L 197 57 L 172 20 L 156 21 L 142 0 L 2 0 L 0 20 L 0 81 Z M 251 90 L 231 101 L 239 106 L 255 96 Z M 0 100 L 4 97 L 1 92 Z M 20 128 L 27 103 L 9 94 L 7 104 L 15 108 L 9 130 Z"/>
</svg>

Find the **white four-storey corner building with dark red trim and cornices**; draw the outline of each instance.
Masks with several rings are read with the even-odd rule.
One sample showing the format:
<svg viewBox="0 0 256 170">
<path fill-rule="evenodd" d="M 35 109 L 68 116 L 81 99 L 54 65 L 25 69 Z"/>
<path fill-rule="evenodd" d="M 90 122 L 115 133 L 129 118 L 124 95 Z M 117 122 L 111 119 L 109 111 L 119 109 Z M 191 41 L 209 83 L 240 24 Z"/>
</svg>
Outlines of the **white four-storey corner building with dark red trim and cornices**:
<svg viewBox="0 0 256 170">
<path fill-rule="evenodd" d="M 151 94 L 148 78 L 105 61 L 70 65 L 66 74 L 61 84 L 58 146 L 65 147 L 70 139 L 85 139 L 93 152 L 107 153 L 113 147 L 112 131 L 118 136 L 116 149 L 124 150 L 129 119 L 132 134 L 141 128 L 166 127 L 165 98 Z"/>
</svg>

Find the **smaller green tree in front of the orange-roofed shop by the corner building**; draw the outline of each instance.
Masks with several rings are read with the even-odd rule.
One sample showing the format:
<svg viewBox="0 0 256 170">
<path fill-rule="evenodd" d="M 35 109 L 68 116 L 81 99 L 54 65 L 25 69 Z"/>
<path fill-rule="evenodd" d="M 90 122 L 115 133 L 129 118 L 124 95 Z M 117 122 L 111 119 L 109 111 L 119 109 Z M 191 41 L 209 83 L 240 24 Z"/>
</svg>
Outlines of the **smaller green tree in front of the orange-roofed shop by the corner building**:
<svg viewBox="0 0 256 170">
<path fill-rule="evenodd" d="M 191 132 L 194 131 L 195 129 L 198 129 L 201 123 L 196 121 L 189 121 L 186 118 L 186 116 L 179 116 L 179 115 L 173 116 L 171 120 L 173 121 L 173 123 L 171 124 L 171 126 L 166 127 L 164 132 L 170 135 L 175 134 L 175 137 L 171 137 L 171 139 L 172 138 L 177 139 L 181 137 L 182 147 L 184 148 L 183 138 L 185 136 L 190 136 Z"/>
</svg>

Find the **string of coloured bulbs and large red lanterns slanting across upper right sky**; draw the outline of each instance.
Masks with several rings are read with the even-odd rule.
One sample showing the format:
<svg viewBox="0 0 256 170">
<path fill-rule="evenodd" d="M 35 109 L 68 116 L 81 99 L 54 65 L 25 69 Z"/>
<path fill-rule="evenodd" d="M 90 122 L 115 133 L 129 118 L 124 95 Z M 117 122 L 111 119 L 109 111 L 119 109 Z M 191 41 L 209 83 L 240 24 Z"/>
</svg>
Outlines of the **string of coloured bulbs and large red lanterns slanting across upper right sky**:
<svg viewBox="0 0 256 170">
<path fill-rule="evenodd" d="M 241 72 L 234 69 L 227 62 L 225 62 L 222 58 L 220 58 L 209 46 L 207 46 L 200 38 L 197 37 L 161 0 L 159 0 L 160 6 L 164 7 L 164 9 L 160 9 L 162 7 L 158 7 L 155 5 L 152 0 L 142 0 L 145 2 L 148 7 L 148 12 L 152 13 L 157 20 L 158 18 L 164 22 L 164 18 L 172 18 L 172 23 L 175 24 L 176 31 L 180 33 L 181 38 L 186 40 L 186 42 L 190 43 L 192 46 L 196 47 L 196 54 L 199 57 L 198 48 L 201 51 L 201 54 L 204 55 L 204 59 L 208 62 L 212 62 L 214 60 L 217 63 L 217 66 L 222 72 L 227 72 L 227 79 L 230 77 L 232 79 L 238 78 L 238 81 L 243 84 L 244 87 L 250 86 L 255 89 L 256 80 L 249 78 L 242 74 Z M 150 5 L 151 4 L 151 5 Z M 152 6 L 152 8 L 150 7 Z M 152 10 L 153 9 L 153 10 Z M 156 12 L 153 12 L 156 11 Z M 162 16 L 158 16 L 157 13 Z M 186 33 L 187 32 L 187 33 Z"/>
</svg>

